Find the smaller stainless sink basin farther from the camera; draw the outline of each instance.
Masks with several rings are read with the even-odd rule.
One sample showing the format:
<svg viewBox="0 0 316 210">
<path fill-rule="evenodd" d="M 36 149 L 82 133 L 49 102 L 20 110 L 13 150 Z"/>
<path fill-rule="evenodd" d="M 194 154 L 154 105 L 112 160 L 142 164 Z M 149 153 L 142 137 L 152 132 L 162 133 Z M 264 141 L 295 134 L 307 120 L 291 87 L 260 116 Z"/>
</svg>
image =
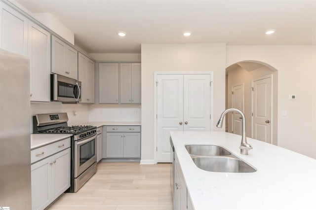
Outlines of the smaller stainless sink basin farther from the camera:
<svg viewBox="0 0 316 210">
<path fill-rule="evenodd" d="M 228 150 L 216 145 L 198 145 L 190 144 L 185 146 L 191 155 L 199 156 L 228 156 L 231 155 Z"/>
</svg>

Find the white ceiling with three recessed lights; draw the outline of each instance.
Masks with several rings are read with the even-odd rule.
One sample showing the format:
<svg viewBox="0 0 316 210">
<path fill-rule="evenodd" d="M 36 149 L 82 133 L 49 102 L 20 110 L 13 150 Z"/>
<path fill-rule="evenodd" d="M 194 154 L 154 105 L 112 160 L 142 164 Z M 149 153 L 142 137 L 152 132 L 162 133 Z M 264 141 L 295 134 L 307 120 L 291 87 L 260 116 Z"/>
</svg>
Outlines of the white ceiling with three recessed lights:
<svg viewBox="0 0 316 210">
<path fill-rule="evenodd" d="M 141 44 L 316 44 L 316 0 L 15 1 L 54 15 L 88 53 L 140 53 Z M 270 29 L 276 33 L 265 35 Z"/>
</svg>

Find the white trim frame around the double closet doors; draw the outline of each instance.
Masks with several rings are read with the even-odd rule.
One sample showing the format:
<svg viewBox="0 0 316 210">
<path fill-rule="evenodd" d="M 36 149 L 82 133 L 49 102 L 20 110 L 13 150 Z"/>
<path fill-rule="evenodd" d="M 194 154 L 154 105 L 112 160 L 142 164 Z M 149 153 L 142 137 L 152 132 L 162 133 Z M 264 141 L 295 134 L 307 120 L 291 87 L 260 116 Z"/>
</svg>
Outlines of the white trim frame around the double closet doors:
<svg viewBox="0 0 316 210">
<path fill-rule="evenodd" d="M 210 131 L 213 131 L 213 87 L 214 72 L 213 71 L 155 71 L 154 72 L 154 164 L 157 164 L 157 76 L 162 74 L 210 74 L 211 90 L 210 90 Z"/>
</svg>

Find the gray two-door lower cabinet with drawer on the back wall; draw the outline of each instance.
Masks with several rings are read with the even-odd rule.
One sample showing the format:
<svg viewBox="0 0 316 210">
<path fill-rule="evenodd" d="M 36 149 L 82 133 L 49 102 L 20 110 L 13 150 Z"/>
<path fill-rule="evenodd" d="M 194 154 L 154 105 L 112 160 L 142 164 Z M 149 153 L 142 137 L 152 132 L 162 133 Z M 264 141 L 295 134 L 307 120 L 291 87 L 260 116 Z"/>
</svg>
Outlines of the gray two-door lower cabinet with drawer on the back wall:
<svg viewBox="0 0 316 210">
<path fill-rule="evenodd" d="M 106 158 L 140 158 L 140 126 L 107 126 Z"/>
</svg>

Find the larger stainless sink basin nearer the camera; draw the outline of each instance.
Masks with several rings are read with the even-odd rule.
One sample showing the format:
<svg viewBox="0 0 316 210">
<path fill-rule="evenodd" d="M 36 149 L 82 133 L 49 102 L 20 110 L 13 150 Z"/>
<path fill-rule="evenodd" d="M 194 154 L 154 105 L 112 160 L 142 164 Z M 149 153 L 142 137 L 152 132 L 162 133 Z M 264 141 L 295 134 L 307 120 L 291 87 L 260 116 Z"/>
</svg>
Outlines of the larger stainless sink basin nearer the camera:
<svg viewBox="0 0 316 210">
<path fill-rule="evenodd" d="M 249 173 L 257 170 L 234 157 L 193 157 L 198 168 L 208 172 Z"/>
</svg>

